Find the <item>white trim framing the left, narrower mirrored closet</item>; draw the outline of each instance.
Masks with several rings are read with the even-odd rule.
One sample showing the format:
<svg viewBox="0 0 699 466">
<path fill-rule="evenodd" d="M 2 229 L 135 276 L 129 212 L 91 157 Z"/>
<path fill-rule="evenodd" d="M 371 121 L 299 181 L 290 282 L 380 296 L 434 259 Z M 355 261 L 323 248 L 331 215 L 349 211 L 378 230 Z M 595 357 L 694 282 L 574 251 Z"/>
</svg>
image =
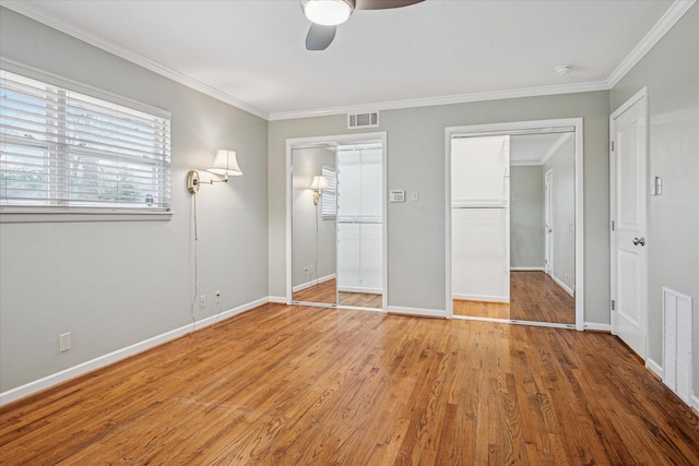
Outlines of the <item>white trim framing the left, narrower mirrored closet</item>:
<svg viewBox="0 0 699 466">
<path fill-rule="evenodd" d="M 382 206 L 382 217 L 383 217 L 383 223 L 382 223 L 382 264 L 381 264 L 381 268 L 382 268 L 382 279 L 383 279 L 383 296 L 382 296 L 382 302 L 381 302 L 381 309 L 382 312 L 387 311 L 388 308 L 388 296 L 389 296 L 389 288 L 388 288 L 388 284 L 389 284 L 389 279 L 388 279 L 388 198 L 386 195 L 387 193 L 387 186 L 388 186 L 388 146 L 387 146 L 387 142 L 388 142 L 388 138 L 387 138 L 387 132 L 386 131 L 381 131 L 381 132 L 374 132 L 374 133 L 353 133 L 353 134 L 337 134 L 337 135 L 328 135 L 328 136 L 315 136 L 315 138 L 295 138 L 295 139 L 288 139 L 286 140 L 286 188 L 285 188 L 285 193 L 286 193 L 286 287 L 285 287 L 285 294 L 286 294 L 286 304 L 291 304 L 292 303 L 292 297 L 293 297 L 293 286 L 292 286 L 292 212 L 293 212 L 293 205 L 292 205 L 292 200 L 293 200 L 293 174 L 292 174 L 292 151 L 295 147 L 300 147 L 300 146 L 307 146 L 307 145 L 312 145 L 312 144 L 321 144 L 321 143 L 330 143 L 330 142 L 335 142 L 335 143 L 341 143 L 341 144 L 353 144 L 353 143 L 359 143 L 359 142 L 365 142 L 365 141 L 377 141 L 380 140 L 381 141 L 381 147 L 382 147 L 382 183 L 383 183 L 383 189 L 381 190 L 382 193 L 382 200 L 381 200 L 381 206 Z M 337 308 L 342 308 L 342 306 L 335 306 Z"/>
</svg>

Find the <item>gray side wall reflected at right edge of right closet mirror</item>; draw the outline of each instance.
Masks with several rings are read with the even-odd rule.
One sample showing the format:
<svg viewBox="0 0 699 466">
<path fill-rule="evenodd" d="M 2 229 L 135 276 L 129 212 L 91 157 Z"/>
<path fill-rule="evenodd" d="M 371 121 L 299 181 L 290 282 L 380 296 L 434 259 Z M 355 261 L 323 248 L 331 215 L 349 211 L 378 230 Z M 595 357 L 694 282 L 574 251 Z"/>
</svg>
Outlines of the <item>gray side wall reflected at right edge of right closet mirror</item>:
<svg viewBox="0 0 699 466">
<path fill-rule="evenodd" d="M 576 147 L 574 138 L 544 164 L 543 174 L 553 169 L 554 276 L 576 289 Z"/>
</svg>

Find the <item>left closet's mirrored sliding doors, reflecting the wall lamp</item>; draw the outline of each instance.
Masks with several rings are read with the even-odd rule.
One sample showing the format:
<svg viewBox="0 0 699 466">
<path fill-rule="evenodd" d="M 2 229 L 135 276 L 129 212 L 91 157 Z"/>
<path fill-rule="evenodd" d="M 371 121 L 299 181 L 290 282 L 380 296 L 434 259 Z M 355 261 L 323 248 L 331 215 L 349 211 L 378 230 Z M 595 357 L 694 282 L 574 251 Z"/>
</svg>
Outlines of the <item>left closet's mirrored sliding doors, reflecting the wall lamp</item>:
<svg viewBox="0 0 699 466">
<path fill-rule="evenodd" d="M 381 309 L 382 159 L 371 142 L 292 150 L 294 302 Z"/>
</svg>

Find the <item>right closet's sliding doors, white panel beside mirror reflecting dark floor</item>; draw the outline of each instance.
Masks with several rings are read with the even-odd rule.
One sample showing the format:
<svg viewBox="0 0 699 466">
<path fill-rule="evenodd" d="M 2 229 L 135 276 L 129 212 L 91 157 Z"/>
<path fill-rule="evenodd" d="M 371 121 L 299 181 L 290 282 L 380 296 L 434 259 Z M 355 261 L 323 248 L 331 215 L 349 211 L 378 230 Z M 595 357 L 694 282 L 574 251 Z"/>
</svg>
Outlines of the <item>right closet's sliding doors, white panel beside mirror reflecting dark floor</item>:
<svg viewBox="0 0 699 466">
<path fill-rule="evenodd" d="M 508 141 L 509 156 L 477 145 L 477 140 L 497 138 Z M 460 152 L 460 144 L 467 150 Z M 478 189 L 469 194 L 471 204 L 464 203 L 467 200 L 459 204 L 460 180 L 465 172 L 459 170 L 471 170 L 472 178 L 474 172 L 481 174 L 470 183 L 474 188 L 499 186 L 503 178 L 495 174 L 490 182 L 483 179 L 487 167 L 495 164 L 494 157 L 509 160 L 507 187 L 502 188 L 508 194 L 500 198 L 505 205 L 493 205 L 495 201 L 486 198 L 494 193 Z M 452 140 L 454 315 L 576 323 L 574 162 L 574 132 L 569 128 Z M 507 218 L 498 218 L 498 212 Z M 498 266 L 502 261 L 507 261 L 507 268 Z M 501 274 L 507 275 L 507 291 L 502 286 L 494 288 L 503 282 Z M 465 294 L 460 295 L 460 289 Z"/>
</svg>

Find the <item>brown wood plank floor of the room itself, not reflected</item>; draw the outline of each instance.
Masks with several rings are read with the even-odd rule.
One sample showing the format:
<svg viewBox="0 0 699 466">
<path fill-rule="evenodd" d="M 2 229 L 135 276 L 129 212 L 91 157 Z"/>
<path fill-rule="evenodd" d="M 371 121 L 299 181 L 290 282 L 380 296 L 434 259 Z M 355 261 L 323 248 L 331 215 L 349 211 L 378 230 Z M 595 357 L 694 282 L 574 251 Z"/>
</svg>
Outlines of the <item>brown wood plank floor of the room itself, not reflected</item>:
<svg viewBox="0 0 699 466">
<path fill-rule="evenodd" d="M 0 409 L 3 465 L 698 465 L 616 337 L 265 304 Z"/>
</svg>

